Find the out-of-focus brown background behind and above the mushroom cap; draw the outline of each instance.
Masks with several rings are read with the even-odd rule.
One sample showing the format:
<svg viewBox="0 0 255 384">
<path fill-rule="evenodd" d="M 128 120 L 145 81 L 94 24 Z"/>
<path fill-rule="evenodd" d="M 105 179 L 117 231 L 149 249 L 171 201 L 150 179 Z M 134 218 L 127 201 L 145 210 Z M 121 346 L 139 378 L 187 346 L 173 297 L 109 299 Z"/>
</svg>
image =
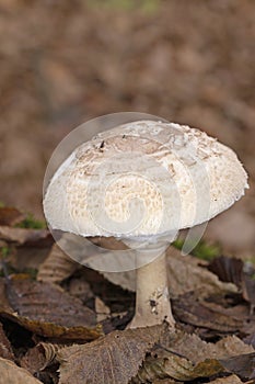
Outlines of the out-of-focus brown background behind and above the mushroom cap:
<svg viewBox="0 0 255 384">
<path fill-rule="evenodd" d="M 0 200 L 43 217 L 57 144 L 91 117 L 157 114 L 205 129 L 248 170 L 206 237 L 255 253 L 255 1 L 0 0 Z"/>
</svg>

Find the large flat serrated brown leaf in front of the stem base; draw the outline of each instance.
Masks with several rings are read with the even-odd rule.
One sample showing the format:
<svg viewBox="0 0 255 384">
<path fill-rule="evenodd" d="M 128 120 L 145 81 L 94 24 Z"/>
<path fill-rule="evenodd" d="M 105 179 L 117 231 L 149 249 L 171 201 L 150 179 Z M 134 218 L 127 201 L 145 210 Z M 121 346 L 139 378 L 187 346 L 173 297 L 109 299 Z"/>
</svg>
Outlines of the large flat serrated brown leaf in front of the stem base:
<svg viewBox="0 0 255 384">
<path fill-rule="evenodd" d="M 164 327 L 114 331 L 96 341 L 59 351 L 59 384 L 127 384 Z"/>
</svg>

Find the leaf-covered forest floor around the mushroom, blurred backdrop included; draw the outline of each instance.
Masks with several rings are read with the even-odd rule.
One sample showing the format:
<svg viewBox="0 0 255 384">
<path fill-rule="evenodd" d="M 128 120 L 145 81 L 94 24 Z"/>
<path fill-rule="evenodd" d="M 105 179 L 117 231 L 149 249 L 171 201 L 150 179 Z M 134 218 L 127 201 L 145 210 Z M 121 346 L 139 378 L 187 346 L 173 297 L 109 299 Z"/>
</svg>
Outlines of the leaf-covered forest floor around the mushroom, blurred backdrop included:
<svg viewBox="0 0 255 384">
<path fill-rule="evenodd" d="M 251 0 L 0 0 L 0 201 L 12 206 L 0 207 L 0 384 L 254 383 L 254 14 Z M 43 219 L 44 173 L 71 129 L 128 111 L 206 131 L 250 174 L 209 223 L 210 246 L 185 263 L 169 250 L 174 331 L 124 330 L 134 274 L 79 267 L 24 214 Z"/>
</svg>

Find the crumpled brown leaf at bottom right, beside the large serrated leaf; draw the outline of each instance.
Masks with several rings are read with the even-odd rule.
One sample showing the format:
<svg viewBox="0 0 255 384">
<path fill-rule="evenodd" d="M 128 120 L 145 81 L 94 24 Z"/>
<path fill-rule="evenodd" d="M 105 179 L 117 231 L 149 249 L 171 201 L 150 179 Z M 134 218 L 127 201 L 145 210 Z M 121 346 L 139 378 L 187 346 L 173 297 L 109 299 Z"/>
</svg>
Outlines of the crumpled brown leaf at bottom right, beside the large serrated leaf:
<svg viewBox="0 0 255 384">
<path fill-rule="evenodd" d="M 219 359 L 251 351 L 252 348 L 236 337 L 227 337 L 215 345 L 178 330 L 165 332 L 143 362 L 134 383 L 146 383 L 157 377 L 181 381 L 210 377 L 225 371 Z"/>
</svg>

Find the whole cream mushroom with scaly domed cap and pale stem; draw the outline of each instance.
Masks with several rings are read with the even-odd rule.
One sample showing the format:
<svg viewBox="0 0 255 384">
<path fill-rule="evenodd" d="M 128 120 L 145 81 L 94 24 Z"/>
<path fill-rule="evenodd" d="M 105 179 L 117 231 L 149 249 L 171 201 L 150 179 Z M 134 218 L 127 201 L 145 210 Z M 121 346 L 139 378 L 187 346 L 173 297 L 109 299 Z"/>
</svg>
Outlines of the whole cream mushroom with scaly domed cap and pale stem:
<svg viewBox="0 0 255 384">
<path fill-rule="evenodd" d="M 53 229 L 114 236 L 135 249 L 130 327 L 174 326 L 166 247 L 179 229 L 229 208 L 245 188 L 247 174 L 232 149 L 189 126 L 144 120 L 76 148 L 49 182 L 44 212 Z"/>
</svg>

